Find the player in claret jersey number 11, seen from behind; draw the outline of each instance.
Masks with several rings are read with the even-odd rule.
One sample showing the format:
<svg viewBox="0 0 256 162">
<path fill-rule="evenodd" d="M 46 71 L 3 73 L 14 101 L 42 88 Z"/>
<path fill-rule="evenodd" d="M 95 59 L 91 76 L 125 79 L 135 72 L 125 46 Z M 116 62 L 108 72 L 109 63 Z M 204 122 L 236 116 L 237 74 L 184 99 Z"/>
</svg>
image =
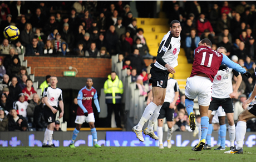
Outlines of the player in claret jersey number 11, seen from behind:
<svg viewBox="0 0 256 162">
<path fill-rule="evenodd" d="M 195 114 L 193 113 L 194 99 L 198 97 L 199 112 L 201 116 L 201 139 L 195 151 L 201 151 L 205 146 L 208 132 L 208 108 L 211 102 L 213 80 L 219 69 L 233 68 L 248 78 L 252 76 L 239 64 L 230 60 L 227 55 L 211 49 L 211 41 L 207 38 L 201 40 L 194 51 L 194 63 L 190 77 L 186 81 L 185 105 L 189 114 L 190 128 L 195 130 Z M 225 65 L 221 65 L 225 64 Z M 221 66 L 220 66 L 221 65 Z M 227 67 L 227 66 L 228 67 Z"/>
</svg>

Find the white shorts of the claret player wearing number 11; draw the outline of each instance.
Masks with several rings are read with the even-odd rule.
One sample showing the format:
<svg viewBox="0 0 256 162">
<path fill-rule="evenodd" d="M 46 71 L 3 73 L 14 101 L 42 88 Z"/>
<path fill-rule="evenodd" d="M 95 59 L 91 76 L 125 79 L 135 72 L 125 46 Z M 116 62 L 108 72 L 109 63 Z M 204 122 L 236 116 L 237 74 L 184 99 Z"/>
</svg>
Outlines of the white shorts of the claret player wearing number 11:
<svg viewBox="0 0 256 162">
<path fill-rule="evenodd" d="M 186 79 L 185 95 L 189 99 L 198 97 L 198 104 L 206 107 L 211 102 L 211 91 L 213 83 L 210 78 L 194 76 Z"/>
</svg>

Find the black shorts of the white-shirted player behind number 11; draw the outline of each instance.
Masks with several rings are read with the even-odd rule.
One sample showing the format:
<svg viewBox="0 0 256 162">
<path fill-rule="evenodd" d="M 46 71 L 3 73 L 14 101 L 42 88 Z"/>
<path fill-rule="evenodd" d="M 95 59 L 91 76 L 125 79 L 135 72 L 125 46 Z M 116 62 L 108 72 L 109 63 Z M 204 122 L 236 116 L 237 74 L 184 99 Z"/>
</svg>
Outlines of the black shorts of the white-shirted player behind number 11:
<svg viewBox="0 0 256 162">
<path fill-rule="evenodd" d="M 231 98 L 214 98 L 211 100 L 209 110 L 214 111 L 218 110 L 219 107 L 222 107 L 225 113 L 234 113 L 233 99 Z"/>
</svg>

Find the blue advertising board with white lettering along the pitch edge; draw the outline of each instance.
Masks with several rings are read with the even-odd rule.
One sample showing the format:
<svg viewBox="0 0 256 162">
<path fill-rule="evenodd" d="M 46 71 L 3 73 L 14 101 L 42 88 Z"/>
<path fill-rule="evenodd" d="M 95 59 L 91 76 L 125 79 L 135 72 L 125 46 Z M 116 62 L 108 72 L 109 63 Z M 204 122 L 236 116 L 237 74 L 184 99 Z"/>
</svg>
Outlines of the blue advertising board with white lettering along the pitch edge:
<svg viewBox="0 0 256 162">
<path fill-rule="evenodd" d="M 26 132 L 0 132 L 0 146 L 42 146 L 43 131 L 26 131 Z M 56 146 L 68 146 L 71 143 L 72 131 L 60 132 L 55 131 L 53 143 Z M 218 132 L 214 132 L 211 137 L 212 146 L 217 143 Z M 136 139 L 136 135 L 131 131 L 97 131 L 99 144 L 102 146 L 158 146 L 158 140 L 144 136 L 145 141 L 142 143 Z M 164 133 L 163 139 L 166 139 Z M 230 145 L 227 137 L 226 145 Z M 247 132 L 244 139 L 244 146 L 252 147 L 256 145 L 256 133 Z M 173 146 L 194 146 L 198 144 L 198 136 L 193 136 L 191 132 L 174 132 L 171 143 Z M 90 131 L 80 131 L 76 138 L 75 146 L 93 146 L 93 139 Z M 164 141 L 167 146 L 167 141 Z"/>
</svg>

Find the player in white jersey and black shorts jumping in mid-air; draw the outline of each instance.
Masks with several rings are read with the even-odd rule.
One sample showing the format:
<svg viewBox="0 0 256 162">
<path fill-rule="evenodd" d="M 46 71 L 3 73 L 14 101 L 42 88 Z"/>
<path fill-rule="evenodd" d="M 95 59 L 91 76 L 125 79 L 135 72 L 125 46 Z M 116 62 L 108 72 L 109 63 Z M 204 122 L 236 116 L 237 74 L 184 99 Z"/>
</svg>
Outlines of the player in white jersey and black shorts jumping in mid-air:
<svg viewBox="0 0 256 162">
<path fill-rule="evenodd" d="M 140 141 L 144 141 L 142 127 L 147 120 L 149 120 L 149 124 L 144 130 L 144 134 L 151 136 L 155 140 L 158 139 L 154 133 L 153 126 L 164 103 L 168 75 L 169 73 L 174 74 L 174 67 L 178 65 L 180 32 L 180 22 L 177 20 L 172 21 L 170 23 L 170 31 L 165 34 L 159 46 L 156 62 L 151 64 L 149 82 L 152 83 L 153 100 L 145 108 L 139 123 L 132 128 L 132 131 Z"/>
</svg>

